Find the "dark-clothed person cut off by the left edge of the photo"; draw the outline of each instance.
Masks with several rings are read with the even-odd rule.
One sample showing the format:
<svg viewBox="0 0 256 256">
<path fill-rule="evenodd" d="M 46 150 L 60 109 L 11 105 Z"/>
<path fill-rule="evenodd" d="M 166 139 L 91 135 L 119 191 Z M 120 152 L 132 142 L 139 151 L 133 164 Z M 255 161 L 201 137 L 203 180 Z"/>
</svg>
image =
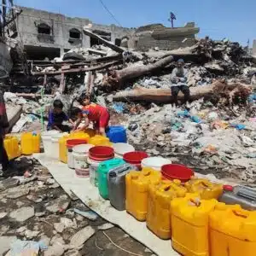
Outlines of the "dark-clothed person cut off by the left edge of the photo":
<svg viewBox="0 0 256 256">
<path fill-rule="evenodd" d="M 3 176 L 7 174 L 9 168 L 9 159 L 3 143 L 5 130 L 8 127 L 9 121 L 6 114 L 3 93 L 0 91 L 0 163 L 2 165 Z"/>
</svg>

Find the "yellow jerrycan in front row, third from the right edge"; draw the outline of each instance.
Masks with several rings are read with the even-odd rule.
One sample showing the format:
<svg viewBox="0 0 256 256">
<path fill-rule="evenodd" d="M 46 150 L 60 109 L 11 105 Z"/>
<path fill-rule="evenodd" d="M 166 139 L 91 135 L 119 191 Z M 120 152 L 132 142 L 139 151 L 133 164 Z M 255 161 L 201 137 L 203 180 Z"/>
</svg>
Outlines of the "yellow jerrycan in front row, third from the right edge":
<svg viewBox="0 0 256 256">
<path fill-rule="evenodd" d="M 171 238 L 170 204 L 173 198 L 184 197 L 186 192 L 178 180 L 148 186 L 147 227 L 160 239 Z"/>
</svg>

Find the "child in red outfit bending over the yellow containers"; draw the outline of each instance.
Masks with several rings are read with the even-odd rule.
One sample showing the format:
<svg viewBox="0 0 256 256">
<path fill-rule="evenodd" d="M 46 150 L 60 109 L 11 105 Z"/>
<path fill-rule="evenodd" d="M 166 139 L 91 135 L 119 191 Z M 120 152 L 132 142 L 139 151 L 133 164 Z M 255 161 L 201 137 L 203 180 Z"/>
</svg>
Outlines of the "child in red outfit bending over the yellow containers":
<svg viewBox="0 0 256 256">
<path fill-rule="evenodd" d="M 106 129 L 108 128 L 108 122 L 110 115 L 108 109 L 97 105 L 96 103 L 90 102 L 90 96 L 81 96 L 79 103 L 84 107 L 82 109 L 73 108 L 73 116 L 76 116 L 77 123 L 74 129 L 78 131 L 84 131 L 90 125 L 90 122 L 93 122 L 94 129 L 97 133 L 102 136 L 106 136 Z M 85 120 L 84 125 L 79 127 L 82 119 Z M 78 128 L 79 127 L 79 128 Z"/>
</svg>

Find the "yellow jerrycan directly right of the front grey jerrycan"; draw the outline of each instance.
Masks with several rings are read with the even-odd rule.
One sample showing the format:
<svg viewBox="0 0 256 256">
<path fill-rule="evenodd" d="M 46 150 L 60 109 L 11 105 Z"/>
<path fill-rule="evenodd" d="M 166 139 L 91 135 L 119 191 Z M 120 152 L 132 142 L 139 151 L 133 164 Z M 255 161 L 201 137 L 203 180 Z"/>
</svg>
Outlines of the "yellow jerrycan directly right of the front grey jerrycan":
<svg viewBox="0 0 256 256">
<path fill-rule="evenodd" d="M 125 176 L 125 208 L 134 218 L 145 221 L 148 212 L 148 185 L 160 183 L 160 172 L 143 168 L 142 172 L 131 171 Z"/>
</svg>

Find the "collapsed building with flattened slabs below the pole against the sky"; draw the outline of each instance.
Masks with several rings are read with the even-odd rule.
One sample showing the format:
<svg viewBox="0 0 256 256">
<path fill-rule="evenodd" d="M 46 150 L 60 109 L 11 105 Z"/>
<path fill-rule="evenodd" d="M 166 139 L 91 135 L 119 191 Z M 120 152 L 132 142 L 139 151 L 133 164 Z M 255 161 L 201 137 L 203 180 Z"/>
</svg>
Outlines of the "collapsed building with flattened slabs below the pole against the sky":
<svg viewBox="0 0 256 256">
<path fill-rule="evenodd" d="M 132 49 L 147 51 L 150 48 L 177 49 L 195 44 L 195 34 L 200 31 L 194 22 L 183 27 L 166 27 L 162 24 L 140 26 L 128 39 L 127 46 Z M 124 45 L 125 46 L 125 45 Z"/>
</svg>

